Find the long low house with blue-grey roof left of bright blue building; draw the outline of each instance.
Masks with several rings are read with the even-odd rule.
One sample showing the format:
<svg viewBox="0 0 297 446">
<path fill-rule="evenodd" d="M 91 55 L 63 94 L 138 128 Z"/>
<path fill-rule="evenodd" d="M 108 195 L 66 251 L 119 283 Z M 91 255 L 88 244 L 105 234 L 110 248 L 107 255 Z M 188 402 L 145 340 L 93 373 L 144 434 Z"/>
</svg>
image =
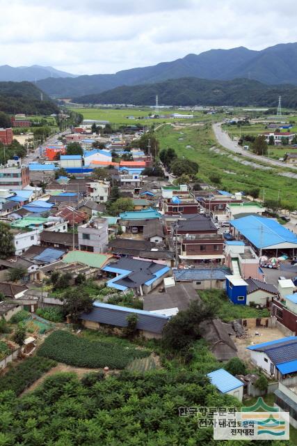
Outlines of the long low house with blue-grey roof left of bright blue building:
<svg viewBox="0 0 297 446">
<path fill-rule="evenodd" d="M 225 289 L 226 275 L 230 274 L 225 266 L 212 266 L 211 268 L 195 267 L 189 269 L 172 270 L 175 282 L 192 284 L 196 290 Z"/>
</svg>

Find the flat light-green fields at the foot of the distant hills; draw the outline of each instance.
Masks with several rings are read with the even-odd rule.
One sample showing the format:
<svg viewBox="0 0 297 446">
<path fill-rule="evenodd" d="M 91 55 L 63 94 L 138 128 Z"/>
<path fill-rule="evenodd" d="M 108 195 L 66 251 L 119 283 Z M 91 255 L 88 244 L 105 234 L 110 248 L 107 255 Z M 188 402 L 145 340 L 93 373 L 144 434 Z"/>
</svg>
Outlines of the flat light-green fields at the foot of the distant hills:
<svg viewBox="0 0 297 446">
<path fill-rule="evenodd" d="M 161 124 L 163 122 L 174 123 L 178 121 L 178 119 L 172 118 L 161 118 L 161 119 L 143 119 L 143 116 L 148 116 L 149 113 L 154 114 L 154 109 L 150 108 L 121 108 L 121 109 L 108 109 L 108 108 L 72 108 L 74 112 L 83 114 L 84 119 L 98 119 L 102 121 L 109 121 L 112 124 L 120 124 L 120 125 L 133 125 L 133 124 L 143 124 L 148 127 L 152 124 Z M 178 110 L 178 109 L 165 109 L 160 110 L 160 114 L 170 115 L 172 113 L 180 113 L 180 114 L 192 114 L 188 110 Z M 209 116 L 203 114 L 202 112 L 194 112 L 193 119 L 184 119 L 184 123 L 195 122 L 195 121 L 206 121 L 209 119 Z M 134 116 L 135 119 L 128 119 L 128 116 Z"/>
</svg>

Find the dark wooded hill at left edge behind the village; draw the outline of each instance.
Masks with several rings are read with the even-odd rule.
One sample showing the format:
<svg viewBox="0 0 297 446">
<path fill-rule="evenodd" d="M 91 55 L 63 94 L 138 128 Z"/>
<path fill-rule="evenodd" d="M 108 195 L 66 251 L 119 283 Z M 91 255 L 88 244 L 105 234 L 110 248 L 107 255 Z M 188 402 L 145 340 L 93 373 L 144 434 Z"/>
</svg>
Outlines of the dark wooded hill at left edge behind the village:
<svg viewBox="0 0 297 446">
<path fill-rule="evenodd" d="M 31 82 L 0 82 L 0 111 L 6 113 L 58 113 L 55 102 Z"/>
</svg>

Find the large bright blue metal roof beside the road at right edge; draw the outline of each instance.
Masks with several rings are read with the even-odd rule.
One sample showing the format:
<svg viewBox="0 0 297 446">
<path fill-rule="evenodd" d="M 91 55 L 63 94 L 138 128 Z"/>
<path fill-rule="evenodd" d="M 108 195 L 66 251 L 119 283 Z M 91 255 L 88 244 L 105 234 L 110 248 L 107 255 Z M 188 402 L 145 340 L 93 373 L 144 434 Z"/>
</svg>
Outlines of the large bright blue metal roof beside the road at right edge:
<svg viewBox="0 0 297 446">
<path fill-rule="evenodd" d="M 230 222 L 234 228 L 257 248 L 292 243 L 297 245 L 297 236 L 271 218 L 248 215 Z"/>
</svg>

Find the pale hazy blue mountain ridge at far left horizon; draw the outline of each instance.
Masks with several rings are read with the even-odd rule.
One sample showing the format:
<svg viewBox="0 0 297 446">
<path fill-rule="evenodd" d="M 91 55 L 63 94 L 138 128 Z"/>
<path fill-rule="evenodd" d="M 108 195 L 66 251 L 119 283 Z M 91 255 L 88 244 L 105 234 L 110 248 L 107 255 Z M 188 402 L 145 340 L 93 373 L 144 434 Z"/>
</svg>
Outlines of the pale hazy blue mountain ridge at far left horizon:
<svg viewBox="0 0 297 446">
<path fill-rule="evenodd" d="M 47 77 L 75 77 L 69 72 L 56 70 L 53 67 L 32 65 L 30 67 L 0 66 L 0 82 L 22 82 L 45 79 Z"/>
</svg>

